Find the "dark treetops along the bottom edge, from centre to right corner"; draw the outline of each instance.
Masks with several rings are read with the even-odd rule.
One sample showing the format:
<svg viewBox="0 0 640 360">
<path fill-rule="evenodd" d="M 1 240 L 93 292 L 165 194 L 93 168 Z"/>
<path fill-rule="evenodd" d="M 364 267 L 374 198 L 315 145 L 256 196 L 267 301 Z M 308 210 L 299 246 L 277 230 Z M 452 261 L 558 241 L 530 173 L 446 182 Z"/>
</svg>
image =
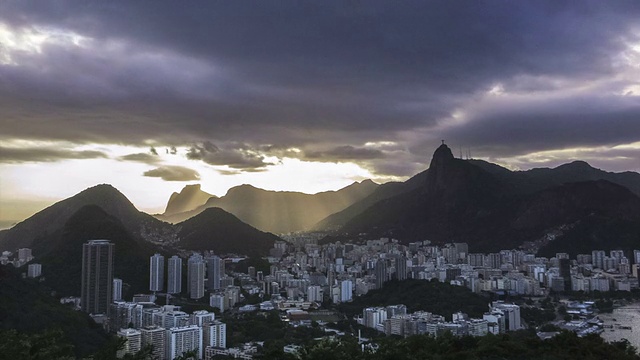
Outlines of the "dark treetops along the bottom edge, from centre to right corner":
<svg viewBox="0 0 640 360">
<path fill-rule="evenodd" d="M 561 332 L 550 340 L 540 340 L 535 333 L 518 331 L 483 337 L 438 338 L 417 335 L 387 338 L 379 342 L 376 352 L 361 351 L 355 338 L 323 339 L 301 351 L 301 360 L 418 360 L 418 359 L 587 359 L 636 360 L 640 356 L 628 341 L 607 343 L 598 335 L 579 338 Z M 263 359 L 276 359 L 265 356 Z"/>
</svg>

